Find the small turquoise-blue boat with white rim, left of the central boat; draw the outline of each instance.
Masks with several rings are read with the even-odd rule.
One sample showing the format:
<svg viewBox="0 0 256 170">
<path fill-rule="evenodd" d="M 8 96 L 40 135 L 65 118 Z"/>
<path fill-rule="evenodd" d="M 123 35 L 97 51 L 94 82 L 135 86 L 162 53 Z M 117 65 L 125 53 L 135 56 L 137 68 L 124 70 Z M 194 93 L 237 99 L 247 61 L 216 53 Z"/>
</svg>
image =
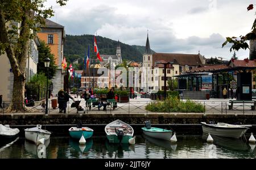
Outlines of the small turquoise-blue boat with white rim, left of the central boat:
<svg viewBox="0 0 256 170">
<path fill-rule="evenodd" d="M 82 135 L 84 135 L 85 139 L 88 139 L 93 135 L 93 130 L 92 128 L 89 128 L 89 127 L 81 127 L 81 128 L 71 127 L 69 128 L 68 131 L 69 131 L 69 135 L 74 139 L 80 139 Z"/>
</svg>

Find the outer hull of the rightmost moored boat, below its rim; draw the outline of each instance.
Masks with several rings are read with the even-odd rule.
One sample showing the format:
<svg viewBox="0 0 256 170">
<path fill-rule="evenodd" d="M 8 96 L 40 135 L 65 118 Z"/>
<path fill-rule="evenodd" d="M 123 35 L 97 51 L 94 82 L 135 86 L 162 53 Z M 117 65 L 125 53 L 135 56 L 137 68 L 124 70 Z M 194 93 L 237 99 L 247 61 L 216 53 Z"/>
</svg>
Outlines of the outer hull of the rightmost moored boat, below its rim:
<svg viewBox="0 0 256 170">
<path fill-rule="evenodd" d="M 210 125 L 205 125 L 201 123 L 203 132 L 204 133 L 209 133 L 210 135 L 215 135 L 215 136 L 222 136 L 222 137 L 227 137 L 227 138 L 240 138 L 245 132 L 247 131 L 248 128 L 246 127 L 236 127 L 236 128 L 228 128 L 228 127 L 214 127 Z"/>
</svg>

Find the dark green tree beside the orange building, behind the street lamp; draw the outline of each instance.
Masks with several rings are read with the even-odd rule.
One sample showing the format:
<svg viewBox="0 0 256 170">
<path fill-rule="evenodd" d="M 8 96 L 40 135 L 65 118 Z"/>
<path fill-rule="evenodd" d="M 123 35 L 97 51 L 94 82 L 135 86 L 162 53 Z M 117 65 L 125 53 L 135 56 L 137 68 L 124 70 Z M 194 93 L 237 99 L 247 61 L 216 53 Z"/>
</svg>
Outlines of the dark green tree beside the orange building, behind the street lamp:
<svg viewBox="0 0 256 170">
<path fill-rule="evenodd" d="M 47 68 L 44 67 L 44 59 L 49 57 L 51 60 L 49 65 L 49 79 L 52 79 L 56 72 L 57 65 L 55 64 L 55 59 L 51 53 L 51 48 L 44 42 L 39 40 L 40 46 L 38 47 L 38 73 L 47 73 Z"/>
</svg>

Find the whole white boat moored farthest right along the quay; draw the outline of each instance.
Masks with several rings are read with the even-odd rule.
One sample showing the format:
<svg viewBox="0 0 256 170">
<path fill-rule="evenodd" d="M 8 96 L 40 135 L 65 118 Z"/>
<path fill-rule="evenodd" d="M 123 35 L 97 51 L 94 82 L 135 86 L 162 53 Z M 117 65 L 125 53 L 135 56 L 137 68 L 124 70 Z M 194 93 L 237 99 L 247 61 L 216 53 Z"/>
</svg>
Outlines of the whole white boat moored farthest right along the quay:
<svg viewBox="0 0 256 170">
<path fill-rule="evenodd" d="M 240 138 L 249 129 L 248 125 L 230 125 L 228 123 L 207 124 L 201 122 L 203 132 L 228 138 Z"/>
</svg>

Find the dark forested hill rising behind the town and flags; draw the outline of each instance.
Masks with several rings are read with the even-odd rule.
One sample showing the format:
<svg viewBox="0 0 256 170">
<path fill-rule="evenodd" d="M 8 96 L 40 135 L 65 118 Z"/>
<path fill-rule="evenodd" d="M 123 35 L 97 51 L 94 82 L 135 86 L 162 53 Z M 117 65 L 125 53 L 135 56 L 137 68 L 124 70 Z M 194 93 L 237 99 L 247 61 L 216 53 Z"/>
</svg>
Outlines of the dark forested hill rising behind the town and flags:
<svg viewBox="0 0 256 170">
<path fill-rule="evenodd" d="M 100 55 L 115 55 L 118 42 L 102 36 L 96 36 Z M 120 43 L 122 59 L 142 62 L 145 46 L 128 45 Z M 66 35 L 64 44 L 64 56 L 69 61 L 84 59 L 90 45 L 90 58 L 96 58 L 94 53 L 94 35 Z M 151 49 L 152 50 L 152 49 Z M 154 51 L 152 51 L 154 52 Z"/>
</svg>

